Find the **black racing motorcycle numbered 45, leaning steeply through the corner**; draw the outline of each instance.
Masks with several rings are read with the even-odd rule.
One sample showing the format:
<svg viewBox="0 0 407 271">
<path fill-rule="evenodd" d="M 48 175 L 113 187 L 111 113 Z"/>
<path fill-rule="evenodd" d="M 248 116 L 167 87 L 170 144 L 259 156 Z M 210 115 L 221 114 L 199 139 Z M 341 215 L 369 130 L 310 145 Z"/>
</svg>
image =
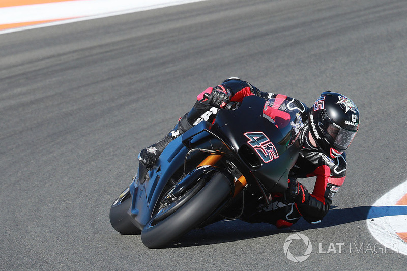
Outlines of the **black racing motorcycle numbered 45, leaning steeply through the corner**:
<svg viewBox="0 0 407 271">
<path fill-rule="evenodd" d="M 250 219 L 271 203 L 271 193 L 287 189 L 302 126 L 299 109 L 286 100 L 248 96 L 227 104 L 213 123 L 171 141 L 150 170 L 138 167 L 111 205 L 111 225 L 161 248 L 191 229 Z"/>
</svg>

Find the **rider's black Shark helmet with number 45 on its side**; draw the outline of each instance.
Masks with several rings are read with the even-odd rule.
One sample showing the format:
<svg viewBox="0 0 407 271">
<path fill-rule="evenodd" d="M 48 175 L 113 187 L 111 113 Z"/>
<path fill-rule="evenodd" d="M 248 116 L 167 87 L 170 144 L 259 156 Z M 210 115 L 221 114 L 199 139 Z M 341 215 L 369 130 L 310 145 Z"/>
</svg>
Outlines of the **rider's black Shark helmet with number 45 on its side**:
<svg viewBox="0 0 407 271">
<path fill-rule="evenodd" d="M 318 146 L 331 158 L 342 154 L 359 128 L 354 102 L 335 92 L 323 92 L 311 108 L 309 130 Z"/>
</svg>

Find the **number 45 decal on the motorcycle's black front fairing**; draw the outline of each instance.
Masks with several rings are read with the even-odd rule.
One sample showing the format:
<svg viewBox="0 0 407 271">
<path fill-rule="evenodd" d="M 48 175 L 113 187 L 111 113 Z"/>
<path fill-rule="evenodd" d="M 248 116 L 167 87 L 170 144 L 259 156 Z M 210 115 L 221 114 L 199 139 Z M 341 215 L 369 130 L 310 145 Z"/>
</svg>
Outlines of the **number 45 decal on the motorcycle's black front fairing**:
<svg viewBox="0 0 407 271">
<path fill-rule="evenodd" d="M 263 132 L 247 132 L 244 135 L 250 139 L 247 143 L 258 153 L 263 162 L 269 163 L 279 157 L 276 147 Z"/>
</svg>

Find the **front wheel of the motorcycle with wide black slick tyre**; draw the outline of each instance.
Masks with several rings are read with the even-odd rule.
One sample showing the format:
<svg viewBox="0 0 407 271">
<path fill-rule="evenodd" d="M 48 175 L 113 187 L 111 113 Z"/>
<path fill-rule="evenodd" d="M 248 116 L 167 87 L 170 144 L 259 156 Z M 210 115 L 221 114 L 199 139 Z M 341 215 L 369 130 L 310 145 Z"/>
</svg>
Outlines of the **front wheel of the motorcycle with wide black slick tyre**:
<svg viewBox="0 0 407 271">
<path fill-rule="evenodd" d="M 144 245 L 148 248 L 165 246 L 201 224 L 225 202 L 231 194 L 229 180 L 219 172 L 214 172 L 209 178 L 203 185 L 204 180 L 198 179 L 183 196 L 153 215 L 141 232 Z M 172 207 L 175 211 L 169 210 Z M 163 212 L 168 215 L 163 215 Z"/>
</svg>

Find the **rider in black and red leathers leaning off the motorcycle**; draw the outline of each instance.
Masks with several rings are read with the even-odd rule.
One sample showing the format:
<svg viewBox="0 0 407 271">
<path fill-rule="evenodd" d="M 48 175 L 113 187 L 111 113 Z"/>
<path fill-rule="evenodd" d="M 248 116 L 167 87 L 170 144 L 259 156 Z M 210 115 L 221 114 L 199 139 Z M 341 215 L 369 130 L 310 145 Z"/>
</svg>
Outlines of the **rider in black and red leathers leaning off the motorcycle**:
<svg viewBox="0 0 407 271">
<path fill-rule="evenodd" d="M 211 105 L 199 101 L 205 93 L 210 94 Z M 272 203 L 245 221 L 266 222 L 284 228 L 292 226 L 301 216 L 309 223 L 318 223 L 328 213 L 332 197 L 343 184 L 346 175 L 345 150 L 351 144 L 359 127 L 359 111 L 346 96 L 330 91 L 323 92 L 311 108 L 297 99 L 281 94 L 261 92 L 250 83 L 232 77 L 220 85 L 209 87 L 197 96 L 197 102 L 181 117 L 167 136 L 148 148 L 142 149 L 138 159 L 151 168 L 158 156 L 173 139 L 205 120 L 212 122 L 219 109 L 228 102 L 241 102 L 244 97 L 256 95 L 266 100 L 288 100 L 301 112 L 302 121 L 308 125 L 301 128 L 300 155 L 289 173 L 286 195 L 272 194 Z M 310 193 L 297 178 L 316 176 Z"/>
</svg>

